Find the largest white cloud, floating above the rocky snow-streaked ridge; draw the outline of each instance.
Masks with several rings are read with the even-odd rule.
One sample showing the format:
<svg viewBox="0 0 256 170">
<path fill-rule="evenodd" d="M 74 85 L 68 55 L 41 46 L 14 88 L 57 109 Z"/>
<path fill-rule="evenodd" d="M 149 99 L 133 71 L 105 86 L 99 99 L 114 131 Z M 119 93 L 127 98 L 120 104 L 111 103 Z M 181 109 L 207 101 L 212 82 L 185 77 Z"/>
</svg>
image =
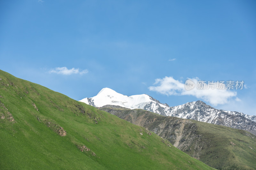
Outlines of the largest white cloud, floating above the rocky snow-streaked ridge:
<svg viewBox="0 0 256 170">
<path fill-rule="evenodd" d="M 157 78 L 154 83 L 155 86 L 150 86 L 148 89 L 164 95 L 192 95 L 198 99 L 203 99 L 214 106 L 228 103 L 229 99 L 236 96 L 236 92 L 227 90 L 226 86 L 224 86 L 223 90 L 216 89 L 217 84 L 215 82 L 213 82 L 215 83 L 213 86 L 208 85 L 208 82 L 205 82 L 204 89 L 198 89 L 197 82 L 200 81 L 199 78 L 192 78 L 190 80 L 195 84 L 195 88 L 191 90 L 186 90 L 184 83 L 175 80 L 172 77 L 164 77 L 162 79 Z M 240 99 L 237 98 L 237 100 Z"/>
</svg>

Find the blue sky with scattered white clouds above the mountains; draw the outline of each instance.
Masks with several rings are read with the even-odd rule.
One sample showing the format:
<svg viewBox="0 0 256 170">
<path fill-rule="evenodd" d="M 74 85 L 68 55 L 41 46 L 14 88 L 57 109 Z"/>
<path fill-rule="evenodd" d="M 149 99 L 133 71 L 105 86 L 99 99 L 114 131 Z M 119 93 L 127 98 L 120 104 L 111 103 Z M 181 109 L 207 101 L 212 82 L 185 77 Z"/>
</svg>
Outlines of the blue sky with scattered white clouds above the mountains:
<svg viewBox="0 0 256 170">
<path fill-rule="evenodd" d="M 0 69 L 75 100 L 108 87 L 256 115 L 255 9 L 254 0 L 3 0 Z M 184 93 L 188 78 L 245 86 Z"/>
</svg>

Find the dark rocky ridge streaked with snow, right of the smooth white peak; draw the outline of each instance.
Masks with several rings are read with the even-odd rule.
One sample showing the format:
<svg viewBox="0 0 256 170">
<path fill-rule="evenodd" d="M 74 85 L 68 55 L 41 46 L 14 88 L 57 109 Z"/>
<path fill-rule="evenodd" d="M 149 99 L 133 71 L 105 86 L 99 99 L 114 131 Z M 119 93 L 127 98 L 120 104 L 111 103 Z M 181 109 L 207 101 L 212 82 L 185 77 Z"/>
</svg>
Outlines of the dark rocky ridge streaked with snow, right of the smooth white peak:
<svg viewBox="0 0 256 170">
<path fill-rule="evenodd" d="M 200 100 L 169 107 L 166 109 L 166 112 L 169 116 L 243 129 L 256 135 L 256 116 L 215 109 Z"/>
</svg>

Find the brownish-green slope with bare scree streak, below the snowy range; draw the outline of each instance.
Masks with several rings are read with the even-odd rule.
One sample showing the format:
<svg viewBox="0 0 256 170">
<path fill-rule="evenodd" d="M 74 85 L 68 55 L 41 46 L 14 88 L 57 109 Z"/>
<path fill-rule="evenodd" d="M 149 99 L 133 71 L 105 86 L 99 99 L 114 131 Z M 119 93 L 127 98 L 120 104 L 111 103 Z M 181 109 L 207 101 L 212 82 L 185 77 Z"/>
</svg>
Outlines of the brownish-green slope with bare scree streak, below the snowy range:
<svg viewBox="0 0 256 170">
<path fill-rule="evenodd" d="M 100 108 L 148 128 L 175 147 L 216 169 L 256 169 L 256 136 L 250 132 L 142 109 Z"/>
</svg>

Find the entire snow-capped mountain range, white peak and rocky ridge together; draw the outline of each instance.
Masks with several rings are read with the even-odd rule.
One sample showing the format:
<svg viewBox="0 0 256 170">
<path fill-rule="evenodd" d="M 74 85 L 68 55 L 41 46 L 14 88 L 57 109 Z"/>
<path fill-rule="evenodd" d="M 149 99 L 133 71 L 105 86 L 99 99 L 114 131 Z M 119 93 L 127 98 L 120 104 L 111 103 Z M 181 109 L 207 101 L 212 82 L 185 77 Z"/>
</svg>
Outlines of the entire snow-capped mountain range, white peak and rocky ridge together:
<svg viewBox="0 0 256 170">
<path fill-rule="evenodd" d="M 96 96 L 80 100 L 93 107 L 116 105 L 130 109 L 144 109 L 164 116 L 193 119 L 201 122 L 243 129 L 256 135 L 256 116 L 240 112 L 215 109 L 203 101 L 188 102 L 183 105 L 169 107 L 166 103 L 147 94 L 125 96 L 110 88 L 103 88 Z"/>
</svg>

